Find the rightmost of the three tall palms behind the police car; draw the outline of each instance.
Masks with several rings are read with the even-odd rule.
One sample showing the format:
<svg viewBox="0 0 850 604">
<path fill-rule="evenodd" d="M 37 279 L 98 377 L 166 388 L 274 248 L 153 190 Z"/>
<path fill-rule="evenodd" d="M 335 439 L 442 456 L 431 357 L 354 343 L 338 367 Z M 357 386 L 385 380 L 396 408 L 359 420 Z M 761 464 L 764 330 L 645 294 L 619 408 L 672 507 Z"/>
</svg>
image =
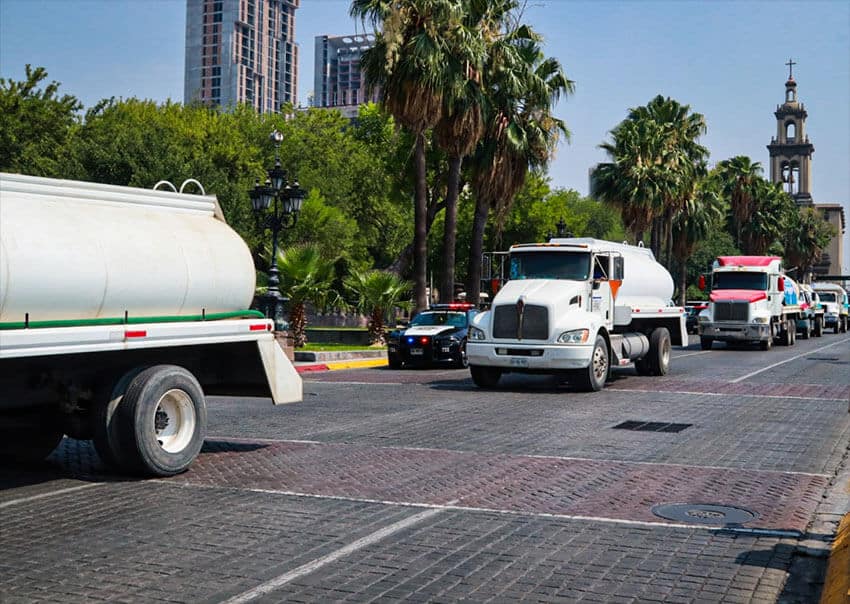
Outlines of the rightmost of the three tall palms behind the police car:
<svg viewBox="0 0 850 604">
<path fill-rule="evenodd" d="M 476 205 L 467 299 L 473 303 L 481 290 L 484 229 L 491 208 L 498 229 L 528 171 L 548 165 L 559 135 L 569 138 L 552 108 L 562 94 L 573 91 L 573 82 L 556 59 L 545 58 L 540 36 L 530 27 L 510 23 L 507 15 L 501 27 L 504 33 L 489 47 L 485 68 L 485 136 L 470 162 Z"/>
</svg>

